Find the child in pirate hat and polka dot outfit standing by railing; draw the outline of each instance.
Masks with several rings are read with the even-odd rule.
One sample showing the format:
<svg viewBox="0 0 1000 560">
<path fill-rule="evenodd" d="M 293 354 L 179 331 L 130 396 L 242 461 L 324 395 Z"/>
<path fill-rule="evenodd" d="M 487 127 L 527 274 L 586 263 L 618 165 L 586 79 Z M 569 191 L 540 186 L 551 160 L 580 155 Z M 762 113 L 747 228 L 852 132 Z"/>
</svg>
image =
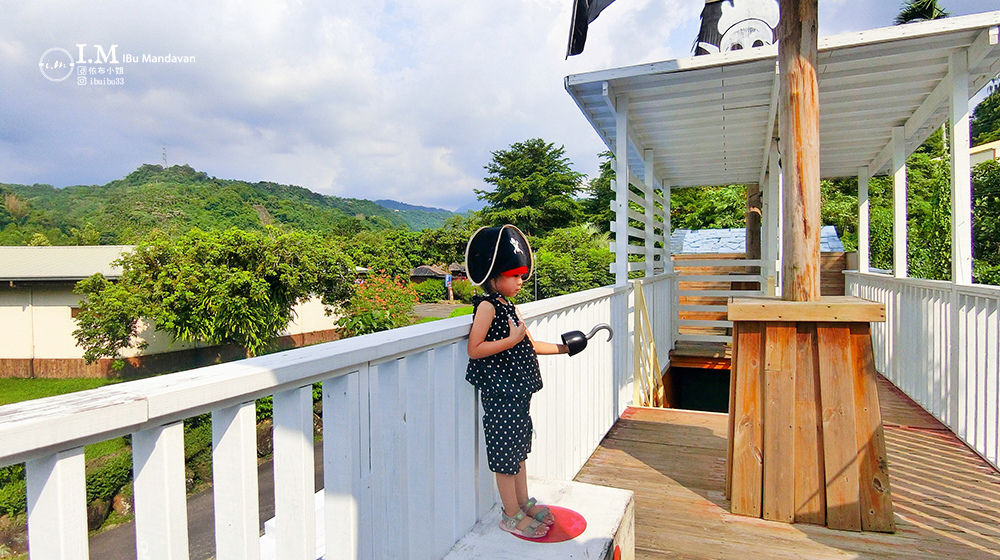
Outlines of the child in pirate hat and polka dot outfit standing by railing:
<svg viewBox="0 0 1000 560">
<path fill-rule="evenodd" d="M 524 461 L 531 451 L 532 393 L 542 388 L 536 354 L 564 354 L 564 344 L 536 342 L 510 302 L 531 276 L 528 240 L 512 225 L 480 228 L 465 252 L 469 280 L 485 295 L 473 299 L 469 368 L 465 379 L 480 391 L 490 470 L 503 502 L 500 528 L 541 538 L 555 519 L 549 508 L 528 498 Z"/>
</svg>

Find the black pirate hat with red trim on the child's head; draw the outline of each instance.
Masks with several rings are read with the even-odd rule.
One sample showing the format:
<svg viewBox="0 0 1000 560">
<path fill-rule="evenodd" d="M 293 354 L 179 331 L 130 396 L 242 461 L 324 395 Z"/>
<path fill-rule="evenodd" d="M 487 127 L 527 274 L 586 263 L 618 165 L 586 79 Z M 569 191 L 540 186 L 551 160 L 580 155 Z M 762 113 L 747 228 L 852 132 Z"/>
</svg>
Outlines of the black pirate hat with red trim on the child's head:
<svg viewBox="0 0 1000 560">
<path fill-rule="evenodd" d="M 527 274 L 530 277 L 533 268 L 528 238 L 510 224 L 479 228 L 465 247 L 465 270 L 469 281 L 476 286 L 498 274 Z"/>
</svg>

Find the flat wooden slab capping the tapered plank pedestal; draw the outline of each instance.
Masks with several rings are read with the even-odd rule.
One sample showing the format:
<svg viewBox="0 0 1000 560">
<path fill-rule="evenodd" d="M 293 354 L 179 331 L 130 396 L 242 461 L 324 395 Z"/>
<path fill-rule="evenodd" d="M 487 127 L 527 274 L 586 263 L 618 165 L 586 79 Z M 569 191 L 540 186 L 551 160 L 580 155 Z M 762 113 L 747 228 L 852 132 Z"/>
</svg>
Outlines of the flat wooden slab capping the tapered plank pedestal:
<svg viewBox="0 0 1000 560">
<path fill-rule="evenodd" d="M 785 301 L 768 296 L 729 298 L 729 320 L 881 323 L 885 321 L 885 305 L 854 296 L 824 296 L 819 301 Z"/>
</svg>

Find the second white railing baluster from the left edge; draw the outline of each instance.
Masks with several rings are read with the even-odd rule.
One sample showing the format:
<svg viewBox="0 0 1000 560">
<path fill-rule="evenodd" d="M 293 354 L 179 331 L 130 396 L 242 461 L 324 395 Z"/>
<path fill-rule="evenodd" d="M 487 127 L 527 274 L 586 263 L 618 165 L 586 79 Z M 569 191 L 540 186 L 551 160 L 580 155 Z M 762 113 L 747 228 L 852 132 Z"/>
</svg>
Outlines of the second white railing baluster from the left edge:
<svg viewBox="0 0 1000 560">
<path fill-rule="evenodd" d="M 184 423 L 132 434 L 135 539 L 139 560 L 186 559 Z"/>
</svg>

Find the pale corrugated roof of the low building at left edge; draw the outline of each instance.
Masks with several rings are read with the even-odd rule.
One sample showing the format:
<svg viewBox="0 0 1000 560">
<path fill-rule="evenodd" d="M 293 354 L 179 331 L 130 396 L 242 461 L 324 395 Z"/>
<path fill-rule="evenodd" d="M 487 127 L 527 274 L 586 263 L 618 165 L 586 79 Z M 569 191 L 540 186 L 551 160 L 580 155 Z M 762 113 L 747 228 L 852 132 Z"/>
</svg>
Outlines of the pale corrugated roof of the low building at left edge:
<svg viewBox="0 0 1000 560">
<path fill-rule="evenodd" d="M 132 245 L 83 245 L 56 247 L 0 247 L 2 281 L 76 281 L 100 272 L 121 276 L 111 263 L 131 251 Z"/>
</svg>

